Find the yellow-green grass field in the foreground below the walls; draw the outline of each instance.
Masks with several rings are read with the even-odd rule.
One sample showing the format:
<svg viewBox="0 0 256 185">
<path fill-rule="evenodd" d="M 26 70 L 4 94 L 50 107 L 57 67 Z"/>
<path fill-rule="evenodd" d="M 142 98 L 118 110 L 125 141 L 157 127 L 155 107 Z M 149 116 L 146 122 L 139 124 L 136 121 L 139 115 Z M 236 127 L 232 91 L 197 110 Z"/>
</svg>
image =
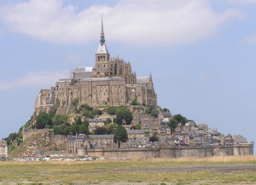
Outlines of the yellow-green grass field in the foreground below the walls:
<svg viewBox="0 0 256 185">
<path fill-rule="evenodd" d="M 256 156 L 125 161 L 0 162 L 0 184 L 255 184 L 255 172 L 106 172 L 122 168 L 255 164 Z M 12 175 L 11 175 L 12 174 Z"/>
</svg>

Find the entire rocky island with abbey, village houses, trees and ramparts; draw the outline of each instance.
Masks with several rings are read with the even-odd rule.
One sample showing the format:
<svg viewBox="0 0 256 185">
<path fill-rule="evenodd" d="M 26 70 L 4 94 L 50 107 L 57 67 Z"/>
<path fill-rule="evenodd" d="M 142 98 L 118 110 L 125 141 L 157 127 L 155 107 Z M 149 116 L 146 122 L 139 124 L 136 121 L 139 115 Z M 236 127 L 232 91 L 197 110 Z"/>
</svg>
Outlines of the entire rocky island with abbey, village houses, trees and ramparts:
<svg viewBox="0 0 256 185">
<path fill-rule="evenodd" d="M 40 89 L 35 112 L 1 140 L 1 155 L 96 158 L 206 158 L 248 156 L 253 142 L 172 115 L 157 105 L 148 70 L 137 77 L 132 63 L 111 57 L 103 20 L 93 67 L 77 67 L 50 89 Z M 67 74 L 68 76 L 68 74 Z"/>
</svg>

